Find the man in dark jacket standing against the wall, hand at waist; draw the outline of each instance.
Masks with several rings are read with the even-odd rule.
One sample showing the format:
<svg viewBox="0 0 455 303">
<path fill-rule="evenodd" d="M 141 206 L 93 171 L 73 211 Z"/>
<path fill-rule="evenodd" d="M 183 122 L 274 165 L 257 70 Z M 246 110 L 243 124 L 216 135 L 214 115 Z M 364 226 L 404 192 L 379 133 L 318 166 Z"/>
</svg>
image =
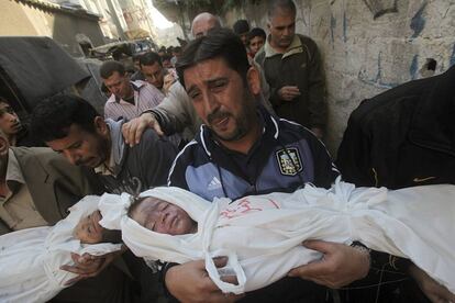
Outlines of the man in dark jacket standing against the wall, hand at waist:
<svg viewBox="0 0 455 303">
<path fill-rule="evenodd" d="M 296 34 L 296 4 L 273 0 L 268 5 L 269 36 L 255 60 L 270 86 L 269 101 L 280 117 L 323 136 L 326 124 L 325 82 L 315 43 Z"/>
</svg>

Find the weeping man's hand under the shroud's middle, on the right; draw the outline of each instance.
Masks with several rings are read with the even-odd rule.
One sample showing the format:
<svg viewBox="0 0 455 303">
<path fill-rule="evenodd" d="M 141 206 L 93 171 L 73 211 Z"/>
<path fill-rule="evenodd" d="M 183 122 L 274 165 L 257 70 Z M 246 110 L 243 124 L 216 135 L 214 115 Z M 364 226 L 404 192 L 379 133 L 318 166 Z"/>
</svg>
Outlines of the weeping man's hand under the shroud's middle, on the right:
<svg viewBox="0 0 455 303">
<path fill-rule="evenodd" d="M 367 251 L 359 251 L 344 244 L 308 240 L 303 246 L 324 254 L 320 261 L 289 271 L 290 277 L 300 277 L 328 288 L 337 289 L 365 278 L 369 271 Z"/>
</svg>

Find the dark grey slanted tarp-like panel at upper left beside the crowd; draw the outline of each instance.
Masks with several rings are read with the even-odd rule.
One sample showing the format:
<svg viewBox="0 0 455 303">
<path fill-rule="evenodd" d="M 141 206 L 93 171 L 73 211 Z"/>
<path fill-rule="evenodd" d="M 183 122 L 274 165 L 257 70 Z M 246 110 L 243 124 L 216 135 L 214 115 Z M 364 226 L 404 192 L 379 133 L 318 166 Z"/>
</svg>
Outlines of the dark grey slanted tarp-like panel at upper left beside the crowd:
<svg viewBox="0 0 455 303">
<path fill-rule="evenodd" d="M 49 37 L 0 37 L 0 72 L 27 111 L 90 77 Z"/>
</svg>

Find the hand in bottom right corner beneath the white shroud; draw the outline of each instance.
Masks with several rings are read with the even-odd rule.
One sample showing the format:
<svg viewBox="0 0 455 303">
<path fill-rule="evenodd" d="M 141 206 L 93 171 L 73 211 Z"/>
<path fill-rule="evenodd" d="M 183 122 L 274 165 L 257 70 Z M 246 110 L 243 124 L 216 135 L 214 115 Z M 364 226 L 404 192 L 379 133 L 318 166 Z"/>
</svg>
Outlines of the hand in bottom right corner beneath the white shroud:
<svg viewBox="0 0 455 303">
<path fill-rule="evenodd" d="M 422 269 L 412 265 L 409 268 L 409 274 L 414 278 L 419 288 L 433 303 L 455 302 L 455 294 L 450 292 L 445 287 L 441 285 L 426 274 Z"/>
</svg>

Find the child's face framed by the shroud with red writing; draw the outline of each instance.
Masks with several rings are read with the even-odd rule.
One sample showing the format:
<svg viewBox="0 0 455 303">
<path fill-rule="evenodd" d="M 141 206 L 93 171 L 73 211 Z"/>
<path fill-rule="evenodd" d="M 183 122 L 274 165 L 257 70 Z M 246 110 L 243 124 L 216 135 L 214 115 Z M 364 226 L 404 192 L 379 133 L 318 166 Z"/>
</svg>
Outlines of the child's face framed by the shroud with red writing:
<svg viewBox="0 0 455 303">
<path fill-rule="evenodd" d="M 132 212 L 131 218 L 159 234 L 184 235 L 195 233 L 197 224 L 177 205 L 156 198 L 144 199 Z"/>
</svg>

